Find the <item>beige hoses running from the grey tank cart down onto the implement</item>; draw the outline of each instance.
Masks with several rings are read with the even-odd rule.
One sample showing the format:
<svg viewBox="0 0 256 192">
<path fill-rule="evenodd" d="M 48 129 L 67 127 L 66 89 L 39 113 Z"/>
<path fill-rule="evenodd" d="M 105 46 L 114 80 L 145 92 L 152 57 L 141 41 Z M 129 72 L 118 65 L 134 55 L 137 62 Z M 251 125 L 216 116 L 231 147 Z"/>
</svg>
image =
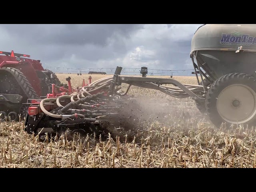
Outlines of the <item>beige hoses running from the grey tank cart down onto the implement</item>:
<svg viewBox="0 0 256 192">
<path fill-rule="evenodd" d="M 132 76 L 119 76 L 120 79 L 122 79 L 122 77 Z M 118 92 L 118 90 L 121 89 L 121 86 L 115 86 L 114 96 L 104 98 L 104 93 L 108 90 L 108 87 L 110 86 L 112 79 L 113 76 L 101 78 L 99 80 L 96 80 L 95 82 L 92 82 L 88 86 L 82 87 L 80 92 L 75 92 L 70 95 L 63 95 L 58 98 L 44 99 L 40 102 L 40 108 L 46 115 L 53 118 L 68 118 L 68 122 L 74 121 L 74 119 L 79 118 L 79 122 L 88 122 L 96 121 L 95 118 L 97 118 L 98 116 L 107 114 L 109 110 L 114 110 L 116 108 L 116 103 L 113 101 L 119 100 L 121 98 L 120 96 L 126 96 L 131 85 L 142 88 L 160 90 L 161 92 L 164 92 L 165 94 L 168 94 L 176 98 L 189 97 L 190 95 L 187 93 L 187 90 L 189 90 L 193 94 L 197 94 L 199 92 L 204 91 L 203 86 L 200 85 L 178 84 L 177 86 L 176 84 L 170 83 L 174 86 L 166 86 L 162 84 L 157 84 L 155 82 L 131 80 L 127 82 L 129 86 L 124 94 Z M 105 90 L 105 92 L 103 90 Z M 94 94 L 95 92 L 98 93 Z M 61 101 L 64 99 L 66 100 L 67 98 L 70 99 L 70 102 L 62 106 Z M 56 102 L 56 104 L 58 105 L 58 110 L 53 110 L 51 112 L 47 111 L 44 108 L 45 102 Z"/>
</svg>

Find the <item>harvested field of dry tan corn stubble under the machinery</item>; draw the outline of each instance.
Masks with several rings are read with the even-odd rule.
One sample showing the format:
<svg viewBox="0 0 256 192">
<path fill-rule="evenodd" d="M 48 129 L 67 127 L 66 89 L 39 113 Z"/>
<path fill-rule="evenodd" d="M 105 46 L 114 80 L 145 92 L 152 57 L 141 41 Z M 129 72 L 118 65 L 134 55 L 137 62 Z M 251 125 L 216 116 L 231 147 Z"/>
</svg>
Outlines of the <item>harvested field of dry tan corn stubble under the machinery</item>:
<svg viewBox="0 0 256 192">
<path fill-rule="evenodd" d="M 57 74 L 72 86 L 81 86 L 89 75 Z M 92 81 L 107 75 L 91 75 Z M 164 76 L 150 76 L 164 77 Z M 166 77 L 170 78 L 170 77 Z M 175 77 L 186 84 L 196 78 Z M 123 86 L 126 91 L 128 86 Z M 255 168 L 256 129 L 235 125 L 214 128 L 190 98 L 172 98 L 157 90 L 132 86 L 139 96 L 141 123 L 138 131 L 94 135 L 66 140 L 65 134 L 37 136 L 24 132 L 24 124 L 1 122 L 1 168 Z M 137 114 L 136 114 L 137 115 Z M 138 116 L 138 115 L 137 115 Z"/>
</svg>

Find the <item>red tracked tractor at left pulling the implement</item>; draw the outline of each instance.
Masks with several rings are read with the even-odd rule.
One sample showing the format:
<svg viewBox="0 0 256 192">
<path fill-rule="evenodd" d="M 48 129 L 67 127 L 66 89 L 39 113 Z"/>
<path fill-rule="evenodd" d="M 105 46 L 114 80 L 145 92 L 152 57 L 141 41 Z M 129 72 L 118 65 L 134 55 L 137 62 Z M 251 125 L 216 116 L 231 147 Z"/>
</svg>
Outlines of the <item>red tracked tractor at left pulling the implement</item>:
<svg viewBox="0 0 256 192">
<path fill-rule="evenodd" d="M 67 88 L 56 74 L 42 67 L 40 60 L 14 51 L 0 51 L 0 118 L 7 116 L 9 120 L 18 120 L 18 114 L 24 116 L 28 108 L 23 103 L 27 99 L 47 96 L 52 92 L 53 84 Z"/>
</svg>

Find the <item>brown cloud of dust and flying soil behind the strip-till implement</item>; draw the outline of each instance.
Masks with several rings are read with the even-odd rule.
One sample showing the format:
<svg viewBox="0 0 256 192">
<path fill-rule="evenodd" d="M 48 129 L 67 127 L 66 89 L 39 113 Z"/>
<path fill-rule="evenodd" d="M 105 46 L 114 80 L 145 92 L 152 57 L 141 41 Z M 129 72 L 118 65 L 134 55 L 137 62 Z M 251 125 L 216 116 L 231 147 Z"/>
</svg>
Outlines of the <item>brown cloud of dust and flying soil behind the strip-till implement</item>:
<svg viewBox="0 0 256 192">
<path fill-rule="evenodd" d="M 108 115 L 108 130 L 113 136 L 134 135 L 154 122 L 163 126 L 196 126 L 196 120 L 204 118 L 193 102 L 180 102 L 171 99 L 152 99 L 148 97 L 121 99 L 116 102 L 118 111 Z M 178 128 L 177 127 L 177 128 Z"/>
</svg>

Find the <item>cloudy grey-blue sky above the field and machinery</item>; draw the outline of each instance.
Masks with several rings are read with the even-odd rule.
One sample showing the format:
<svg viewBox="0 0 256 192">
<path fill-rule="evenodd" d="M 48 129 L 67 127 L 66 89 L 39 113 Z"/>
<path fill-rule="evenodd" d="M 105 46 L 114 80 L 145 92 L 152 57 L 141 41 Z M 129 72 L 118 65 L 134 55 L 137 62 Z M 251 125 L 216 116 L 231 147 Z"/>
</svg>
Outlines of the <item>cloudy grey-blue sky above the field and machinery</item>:
<svg viewBox="0 0 256 192">
<path fill-rule="evenodd" d="M 190 44 L 202 24 L 0 24 L 0 51 L 43 66 L 193 69 Z"/>
</svg>

